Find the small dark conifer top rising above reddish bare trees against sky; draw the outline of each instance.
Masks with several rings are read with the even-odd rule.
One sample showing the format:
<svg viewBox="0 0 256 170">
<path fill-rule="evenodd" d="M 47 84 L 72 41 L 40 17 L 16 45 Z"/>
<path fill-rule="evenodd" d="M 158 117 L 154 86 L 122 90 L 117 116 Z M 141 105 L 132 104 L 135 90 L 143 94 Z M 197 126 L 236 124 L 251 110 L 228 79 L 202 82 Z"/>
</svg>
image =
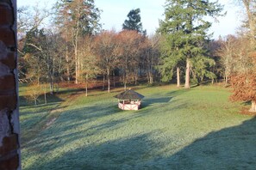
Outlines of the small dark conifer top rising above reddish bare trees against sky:
<svg viewBox="0 0 256 170">
<path fill-rule="evenodd" d="M 140 21 L 140 9 L 132 9 L 128 13 L 128 20 L 125 20 L 122 24 L 122 29 L 135 30 L 139 33 L 146 34 L 146 30 L 143 31 L 142 23 Z"/>
</svg>

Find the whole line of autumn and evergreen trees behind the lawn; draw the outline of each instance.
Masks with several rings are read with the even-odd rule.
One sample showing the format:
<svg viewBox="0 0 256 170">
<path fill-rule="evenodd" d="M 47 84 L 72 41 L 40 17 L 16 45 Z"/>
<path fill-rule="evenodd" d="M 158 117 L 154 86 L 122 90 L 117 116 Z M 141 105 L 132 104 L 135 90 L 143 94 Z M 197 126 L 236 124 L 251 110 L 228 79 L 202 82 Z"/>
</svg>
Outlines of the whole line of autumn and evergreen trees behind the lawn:
<svg viewBox="0 0 256 170">
<path fill-rule="evenodd" d="M 212 39 L 211 22 L 225 15 L 212 1 L 166 0 L 165 19 L 153 35 L 140 21 L 140 9 L 132 9 L 122 31 L 103 30 L 101 10 L 92 0 L 61 0 L 53 11 L 18 9 L 19 80 L 48 83 L 51 93 L 59 82 L 84 83 L 86 95 L 98 79 L 107 90 L 121 82 L 144 80 L 200 84 L 224 79 L 234 88 L 233 100 L 252 101 L 255 108 L 255 17 L 254 1 L 240 5 L 247 17 L 237 35 Z M 45 20 L 51 27 L 44 27 Z M 242 88 L 241 88 L 242 87 Z M 247 89 L 247 93 L 242 90 Z M 249 92 L 250 91 L 250 92 Z M 247 96 L 245 95 L 247 94 Z"/>
</svg>

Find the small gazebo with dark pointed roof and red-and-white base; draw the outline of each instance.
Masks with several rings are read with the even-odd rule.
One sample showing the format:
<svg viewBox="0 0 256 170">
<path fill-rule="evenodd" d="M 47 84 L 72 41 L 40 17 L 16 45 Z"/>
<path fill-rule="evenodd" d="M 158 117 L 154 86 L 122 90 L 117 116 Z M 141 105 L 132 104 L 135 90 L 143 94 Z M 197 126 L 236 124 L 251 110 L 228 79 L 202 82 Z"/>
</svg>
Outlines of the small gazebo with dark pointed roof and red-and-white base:
<svg viewBox="0 0 256 170">
<path fill-rule="evenodd" d="M 121 94 L 117 94 L 114 97 L 118 99 L 118 107 L 122 110 L 139 110 L 141 99 L 143 95 L 134 92 L 134 90 L 128 89 Z"/>
</svg>

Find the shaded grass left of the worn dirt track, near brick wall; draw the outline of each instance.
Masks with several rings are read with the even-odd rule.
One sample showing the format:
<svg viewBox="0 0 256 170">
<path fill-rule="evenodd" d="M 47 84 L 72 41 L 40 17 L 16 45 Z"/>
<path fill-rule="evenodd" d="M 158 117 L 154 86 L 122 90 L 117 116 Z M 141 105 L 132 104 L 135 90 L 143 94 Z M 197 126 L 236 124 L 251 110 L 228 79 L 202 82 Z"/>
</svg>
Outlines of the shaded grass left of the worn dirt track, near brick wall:
<svg viewBox="0 0 256 170">
<path fill-rule="evenodd" d="M 44 94 L 41 94 L 38 105 L 34 105 L 33 102 L 28 102 L 24 96 L 28 89 L 23 84 L 19 96 L 22 147 L 46 129 L 48 122 L 59 116 L 59 113 L 66 108 L 66 99 L 72 98 L 78 93 L 77 89 L 60 88 L 59 94 L 47 93 L 47 104 L 44 103 Z"/>
</svg>

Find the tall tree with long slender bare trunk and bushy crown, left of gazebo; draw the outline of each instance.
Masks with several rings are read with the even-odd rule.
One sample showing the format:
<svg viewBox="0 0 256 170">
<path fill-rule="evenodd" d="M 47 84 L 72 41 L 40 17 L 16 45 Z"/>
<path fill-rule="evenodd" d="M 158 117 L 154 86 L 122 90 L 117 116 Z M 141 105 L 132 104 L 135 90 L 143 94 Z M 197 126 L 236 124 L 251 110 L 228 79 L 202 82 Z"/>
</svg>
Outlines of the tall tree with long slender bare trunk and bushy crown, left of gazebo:
<svg viewBox="0 0 256 170">
<path fill-rule="evenodd" d="M 94 0 L 61 0 L 56 6 L 57 21 L 65 23 L 60 25 L 61 30 L 65 30 L 66 37 L 70 32 L 75 60 L 75 77 L 78 83 L 80 65 L 78 63 L 78 40 L 86 34 L 97 33 L 100 29 L 100 10 L 96 8 Z"/>
</svg>

